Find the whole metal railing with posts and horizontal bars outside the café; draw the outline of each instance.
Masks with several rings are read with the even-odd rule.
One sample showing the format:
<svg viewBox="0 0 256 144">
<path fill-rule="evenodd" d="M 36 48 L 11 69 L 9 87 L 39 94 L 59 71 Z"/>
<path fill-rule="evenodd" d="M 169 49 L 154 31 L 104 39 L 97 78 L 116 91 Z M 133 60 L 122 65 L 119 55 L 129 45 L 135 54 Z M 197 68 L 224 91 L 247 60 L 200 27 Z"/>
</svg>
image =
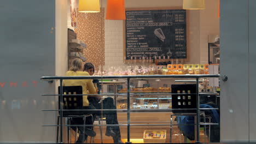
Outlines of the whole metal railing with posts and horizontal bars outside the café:
<svg viewBox="0 0 256 144">
<path fill-rule="evenodd" d="M 43 111 L 60 111 L 60 125 L 43 125 L 43 126 L 57 126 L 60 127 L 60 143 L 63 143 L 63 126 L 65 127 L 81 127 L 83 125 L 63 125 L 63 111 L 120 111 L 127 112 L 127 124 L 111 124 L 106 126 L 127 126 L 127 142 L 130 142 L 130 127 L 131 126 L 141 126 L 141 125 L 196 125 L 196 143 L 199 141 L 200 136 L 200 125 L 217 125 L 218 123 L 200 123 L 200 110 L 213 110 L 213 109 L 200 109 L 200 93 L 199 93 L 199 79 L 200 78 L 219 78 L 220 75 L 124 75 L 124 76 L 43 76 L 40 79 L 48 81 L 52 83 L 53 80 L 60 80 L 60 94 L 42 94 L 43 96 L 60 96 L 60 103 L 63 103 L 63 95 L 72 95 L 72 94 L 62 94 L 63 92 L 63 80 L 81 80 L 81 79 L 126 79 L 127 80 L 127 93 L 126 94 L 90 94 L 90 95 L 127 95 L 127 109 L 99 109 L 99 110 L 63 110 L 62 106 L 60 106 L 60 110 L 43 110 Z M 196 80 L 196 109 L 150 109 L 150 110 L 131 110 L 130 109 L 130 95 L 138 95 L 139 93 L 130 93 L 130 79 L 155 79 L 155 78 L 188 78 Z M 148 93 L 150 95 L 150 93 Z M 152 95 L 158 94 L 170 94 L 170 95 L 178 95 L 179 93 L 156 93 Z M 202 93 L 209 94 L 209 93 Z M 88 94 L 75 94 L 75 95 L 88 95 Z M 147 95 L 147 93 L 143 93 L 143 95 Z M 171 112 L 173 110 L 196 110 L 196 124 L 131 124 L 130 123 L 130 113 L 131 112 Z M 86 125 L 86 127 L 91 126 L 99 126 L 99 125 Z M 100 125 L 104 126 L 104 125 Z"/>
</svg>

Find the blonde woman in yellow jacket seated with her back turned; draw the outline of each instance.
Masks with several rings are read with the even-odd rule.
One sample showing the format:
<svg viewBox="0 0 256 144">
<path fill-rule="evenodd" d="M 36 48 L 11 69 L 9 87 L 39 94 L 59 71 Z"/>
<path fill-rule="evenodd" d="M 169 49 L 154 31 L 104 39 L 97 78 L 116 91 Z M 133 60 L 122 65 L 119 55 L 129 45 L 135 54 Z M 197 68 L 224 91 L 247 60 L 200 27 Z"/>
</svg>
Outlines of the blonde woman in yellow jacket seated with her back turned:
<svg viewBox="0 0 256 144">
<path fill-rule="evenodd" d="M 66 73 L 66 76 L 89 76 L 89 73 L 82 71 L 83 68 L 83 61 L 79 58 L 75 58 L 72 63 L 71 67 Z M 92 83 L 91 79 L 83 79 L 83 80 L 63 80 L 63 86 L 82 86 L 83 87 L 83 94 L 96 94 L 97 91 L 94 87 L 94 83 Z M 83 95 L 83 109 L 91 109 L 89 105 L 89 101 L 87 99 L 88 95 Z M 86 119 L 86 124 L 92 124 L 92 121 L 89 120 L 90 118 Z M 87 121 L 88 120 L 88 121 Z M 83 125 L 83 118 L 72 118 L 71 124 L 73 125 Z M 76 143 L 84 143 L 85 135 L 89 136 L 96 136 L 96 133 L 92 128 L 89 127 L 78 127 L 79 129 L 79 137 Z M 85 133 L 84 133 L 85 131 Z"/>
</svg>

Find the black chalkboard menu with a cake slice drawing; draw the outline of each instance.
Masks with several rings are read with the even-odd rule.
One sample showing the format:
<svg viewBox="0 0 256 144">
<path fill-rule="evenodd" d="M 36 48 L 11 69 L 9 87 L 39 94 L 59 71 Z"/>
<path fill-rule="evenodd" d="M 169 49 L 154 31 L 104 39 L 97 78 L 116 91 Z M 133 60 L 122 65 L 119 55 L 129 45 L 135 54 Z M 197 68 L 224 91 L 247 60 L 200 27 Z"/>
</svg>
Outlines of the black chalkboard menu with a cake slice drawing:
<svg viewBox="0 0 256 144">
<path fill-rule="evenodd" d="M 186 11 L 126 11 L 126 59 L 187 58 Z"/>
</svg>

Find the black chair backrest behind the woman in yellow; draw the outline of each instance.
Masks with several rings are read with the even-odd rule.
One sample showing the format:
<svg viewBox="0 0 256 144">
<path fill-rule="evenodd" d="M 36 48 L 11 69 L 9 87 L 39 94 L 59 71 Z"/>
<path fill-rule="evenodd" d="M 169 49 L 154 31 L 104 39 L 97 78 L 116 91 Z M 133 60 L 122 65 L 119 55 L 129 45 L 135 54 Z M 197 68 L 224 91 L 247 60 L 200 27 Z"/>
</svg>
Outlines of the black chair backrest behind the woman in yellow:
<svg viewBox="0 0 256 144">
<path fill-rule="evenodd" d="M 59 86 L 60 94 L 60 86 Z M 62 106 L 63 110 L 77 110 L 83 109 L 83 96 L 82 95 L 73 95 L 73 94 L 83 94 L 82 86 L 63 86 L 63 104 L 60 104 L 60 95 L 59 95 L 59 109 Z M 66 94 L 66 95 L 65 95 Z M 70 95 L 69 95 L 70 94 Z M 63 111 L 63 115 L 81 115 L 81 111 Z"/>
</svg>

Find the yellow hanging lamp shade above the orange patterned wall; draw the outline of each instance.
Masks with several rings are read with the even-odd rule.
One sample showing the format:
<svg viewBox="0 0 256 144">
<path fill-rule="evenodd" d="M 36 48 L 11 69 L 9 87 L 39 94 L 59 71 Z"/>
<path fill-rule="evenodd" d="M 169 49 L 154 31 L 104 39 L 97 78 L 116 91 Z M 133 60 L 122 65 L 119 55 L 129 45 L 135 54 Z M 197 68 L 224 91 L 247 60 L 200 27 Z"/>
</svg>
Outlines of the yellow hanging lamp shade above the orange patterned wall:
<svg viewBox="0 0 256 144">
<path fill-rule="evenodd" d="M 100 11 L 100 0 L 79 0 L 78 12 L 98 13 Z"/>
</svg>

